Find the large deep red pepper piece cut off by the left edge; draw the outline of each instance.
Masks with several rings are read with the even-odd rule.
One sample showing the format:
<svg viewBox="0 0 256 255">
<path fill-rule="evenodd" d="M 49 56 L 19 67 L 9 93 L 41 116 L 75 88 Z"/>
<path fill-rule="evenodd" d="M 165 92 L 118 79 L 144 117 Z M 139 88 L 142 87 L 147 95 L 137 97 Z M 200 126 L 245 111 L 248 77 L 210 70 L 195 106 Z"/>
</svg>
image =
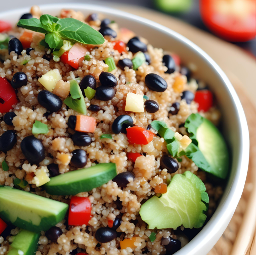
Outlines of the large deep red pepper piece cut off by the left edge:
<svg viewBox="0 0 256 255">
<path fill-rule="evenodd" d="M 9 112 L 18 102 L 15 89 L 6 78 L 0 77 L 0 113 Z"/>
</svg>

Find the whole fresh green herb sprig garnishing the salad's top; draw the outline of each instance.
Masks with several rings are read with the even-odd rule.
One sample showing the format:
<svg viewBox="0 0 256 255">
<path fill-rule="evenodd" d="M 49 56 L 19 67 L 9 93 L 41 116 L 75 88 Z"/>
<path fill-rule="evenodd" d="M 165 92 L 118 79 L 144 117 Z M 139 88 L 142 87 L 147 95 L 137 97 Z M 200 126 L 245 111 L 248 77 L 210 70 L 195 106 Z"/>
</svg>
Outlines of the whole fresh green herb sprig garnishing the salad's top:
<svg viewBox="0 0 256 255">
<path fill-rule="evenodd" d="M 40 17 L 40 20 L 36 18 L 21 19 L 17 26 L 44 33 L 45 42 L 52 49 L 57 48 L 63 39 L 93 45 L 105 42 L 102 34 L 89 25 L 73 18 L 59 19 L 44 14 Z"/>
</svg>

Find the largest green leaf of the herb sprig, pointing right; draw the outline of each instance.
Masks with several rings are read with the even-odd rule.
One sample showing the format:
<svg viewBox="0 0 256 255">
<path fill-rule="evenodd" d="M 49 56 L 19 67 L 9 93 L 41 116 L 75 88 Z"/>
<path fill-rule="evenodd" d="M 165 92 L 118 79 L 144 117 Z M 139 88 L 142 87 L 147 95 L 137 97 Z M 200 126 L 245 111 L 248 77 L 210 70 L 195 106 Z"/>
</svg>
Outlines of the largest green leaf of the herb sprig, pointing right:
<svg viewBox="0 0 256 255">
<path fill-rule="evenodd" d="M 82 21 L 73 18 L 65 18 L 60 19 L 57 24 L 60 25 L 58 33 L 63 38 L 72 39 L 83 44 L 97 45 L 105 42 L 102 34 Z"/>
</svg>

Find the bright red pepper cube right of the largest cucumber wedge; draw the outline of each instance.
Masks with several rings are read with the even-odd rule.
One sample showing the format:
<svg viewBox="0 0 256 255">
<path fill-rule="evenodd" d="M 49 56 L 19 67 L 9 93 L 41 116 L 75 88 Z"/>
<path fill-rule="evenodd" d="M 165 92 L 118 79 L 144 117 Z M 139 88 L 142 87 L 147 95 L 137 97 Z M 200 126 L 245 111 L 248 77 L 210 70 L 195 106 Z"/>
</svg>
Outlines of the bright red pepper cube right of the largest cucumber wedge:
<svg viewBox="0 0 256 255">
<path fill-rule="evenodd" d="M 88 225 L 88 222 L 91 219 L 91 210 L 92 205 L 88 197 L 71 197 L 68 214 L 68 225 Z"/>
</svg>

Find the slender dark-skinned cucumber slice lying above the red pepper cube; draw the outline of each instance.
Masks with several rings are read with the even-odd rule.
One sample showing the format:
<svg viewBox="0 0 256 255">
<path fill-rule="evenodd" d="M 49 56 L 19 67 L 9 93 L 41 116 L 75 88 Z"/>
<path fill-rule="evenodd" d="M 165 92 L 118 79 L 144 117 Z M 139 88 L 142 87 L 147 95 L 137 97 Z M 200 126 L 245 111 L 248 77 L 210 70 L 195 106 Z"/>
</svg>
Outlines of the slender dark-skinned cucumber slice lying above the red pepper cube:
<svg viewBox="0 0 256 255">
<path fill-rule="evenodd" d="M 116 175 L 116 164 L 103 163 L 52 177 L 43 187 L 51 195 L 76 195 L 100 187 Z"/>
</svg>

